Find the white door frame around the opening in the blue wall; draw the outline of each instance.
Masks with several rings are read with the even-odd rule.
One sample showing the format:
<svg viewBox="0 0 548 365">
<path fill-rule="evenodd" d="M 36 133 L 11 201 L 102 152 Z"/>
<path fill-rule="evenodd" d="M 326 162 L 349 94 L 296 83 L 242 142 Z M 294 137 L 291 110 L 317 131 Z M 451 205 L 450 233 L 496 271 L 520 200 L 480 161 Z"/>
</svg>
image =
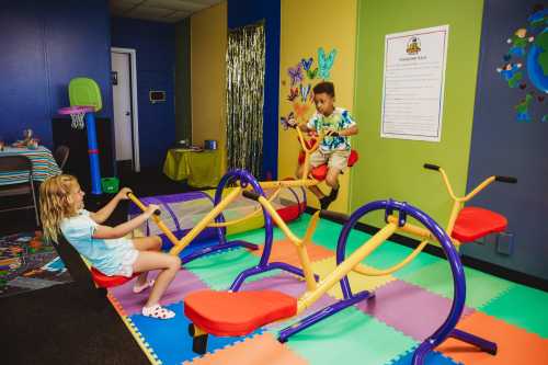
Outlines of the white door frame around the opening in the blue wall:
<svg viewBox="0 0 548 365">
<path fill-rule="evenodd" d="M 127 54 L 129 56 L 129 73 L 130 73 L 130 85 L 132 90 L 132 141 L 133 141 L 133 158 L 134 158 L 134 170 L 135 172 L 140 172 L 140 159 L 139 159 L 139 110 L 138 110 L 138 99 L 137 99 L 137 52 L 135 48 L 119 48 L 111 47 L 111 53 Z M 112 60 L 111 60 L 112 68 Z M 114 98 L 113 98 L 114 99 Z M 114 121 L 114 103 L 113 103 L 113 121 Z M 114 136 L 116 138 L 116 136 Z"/>
</svg>

